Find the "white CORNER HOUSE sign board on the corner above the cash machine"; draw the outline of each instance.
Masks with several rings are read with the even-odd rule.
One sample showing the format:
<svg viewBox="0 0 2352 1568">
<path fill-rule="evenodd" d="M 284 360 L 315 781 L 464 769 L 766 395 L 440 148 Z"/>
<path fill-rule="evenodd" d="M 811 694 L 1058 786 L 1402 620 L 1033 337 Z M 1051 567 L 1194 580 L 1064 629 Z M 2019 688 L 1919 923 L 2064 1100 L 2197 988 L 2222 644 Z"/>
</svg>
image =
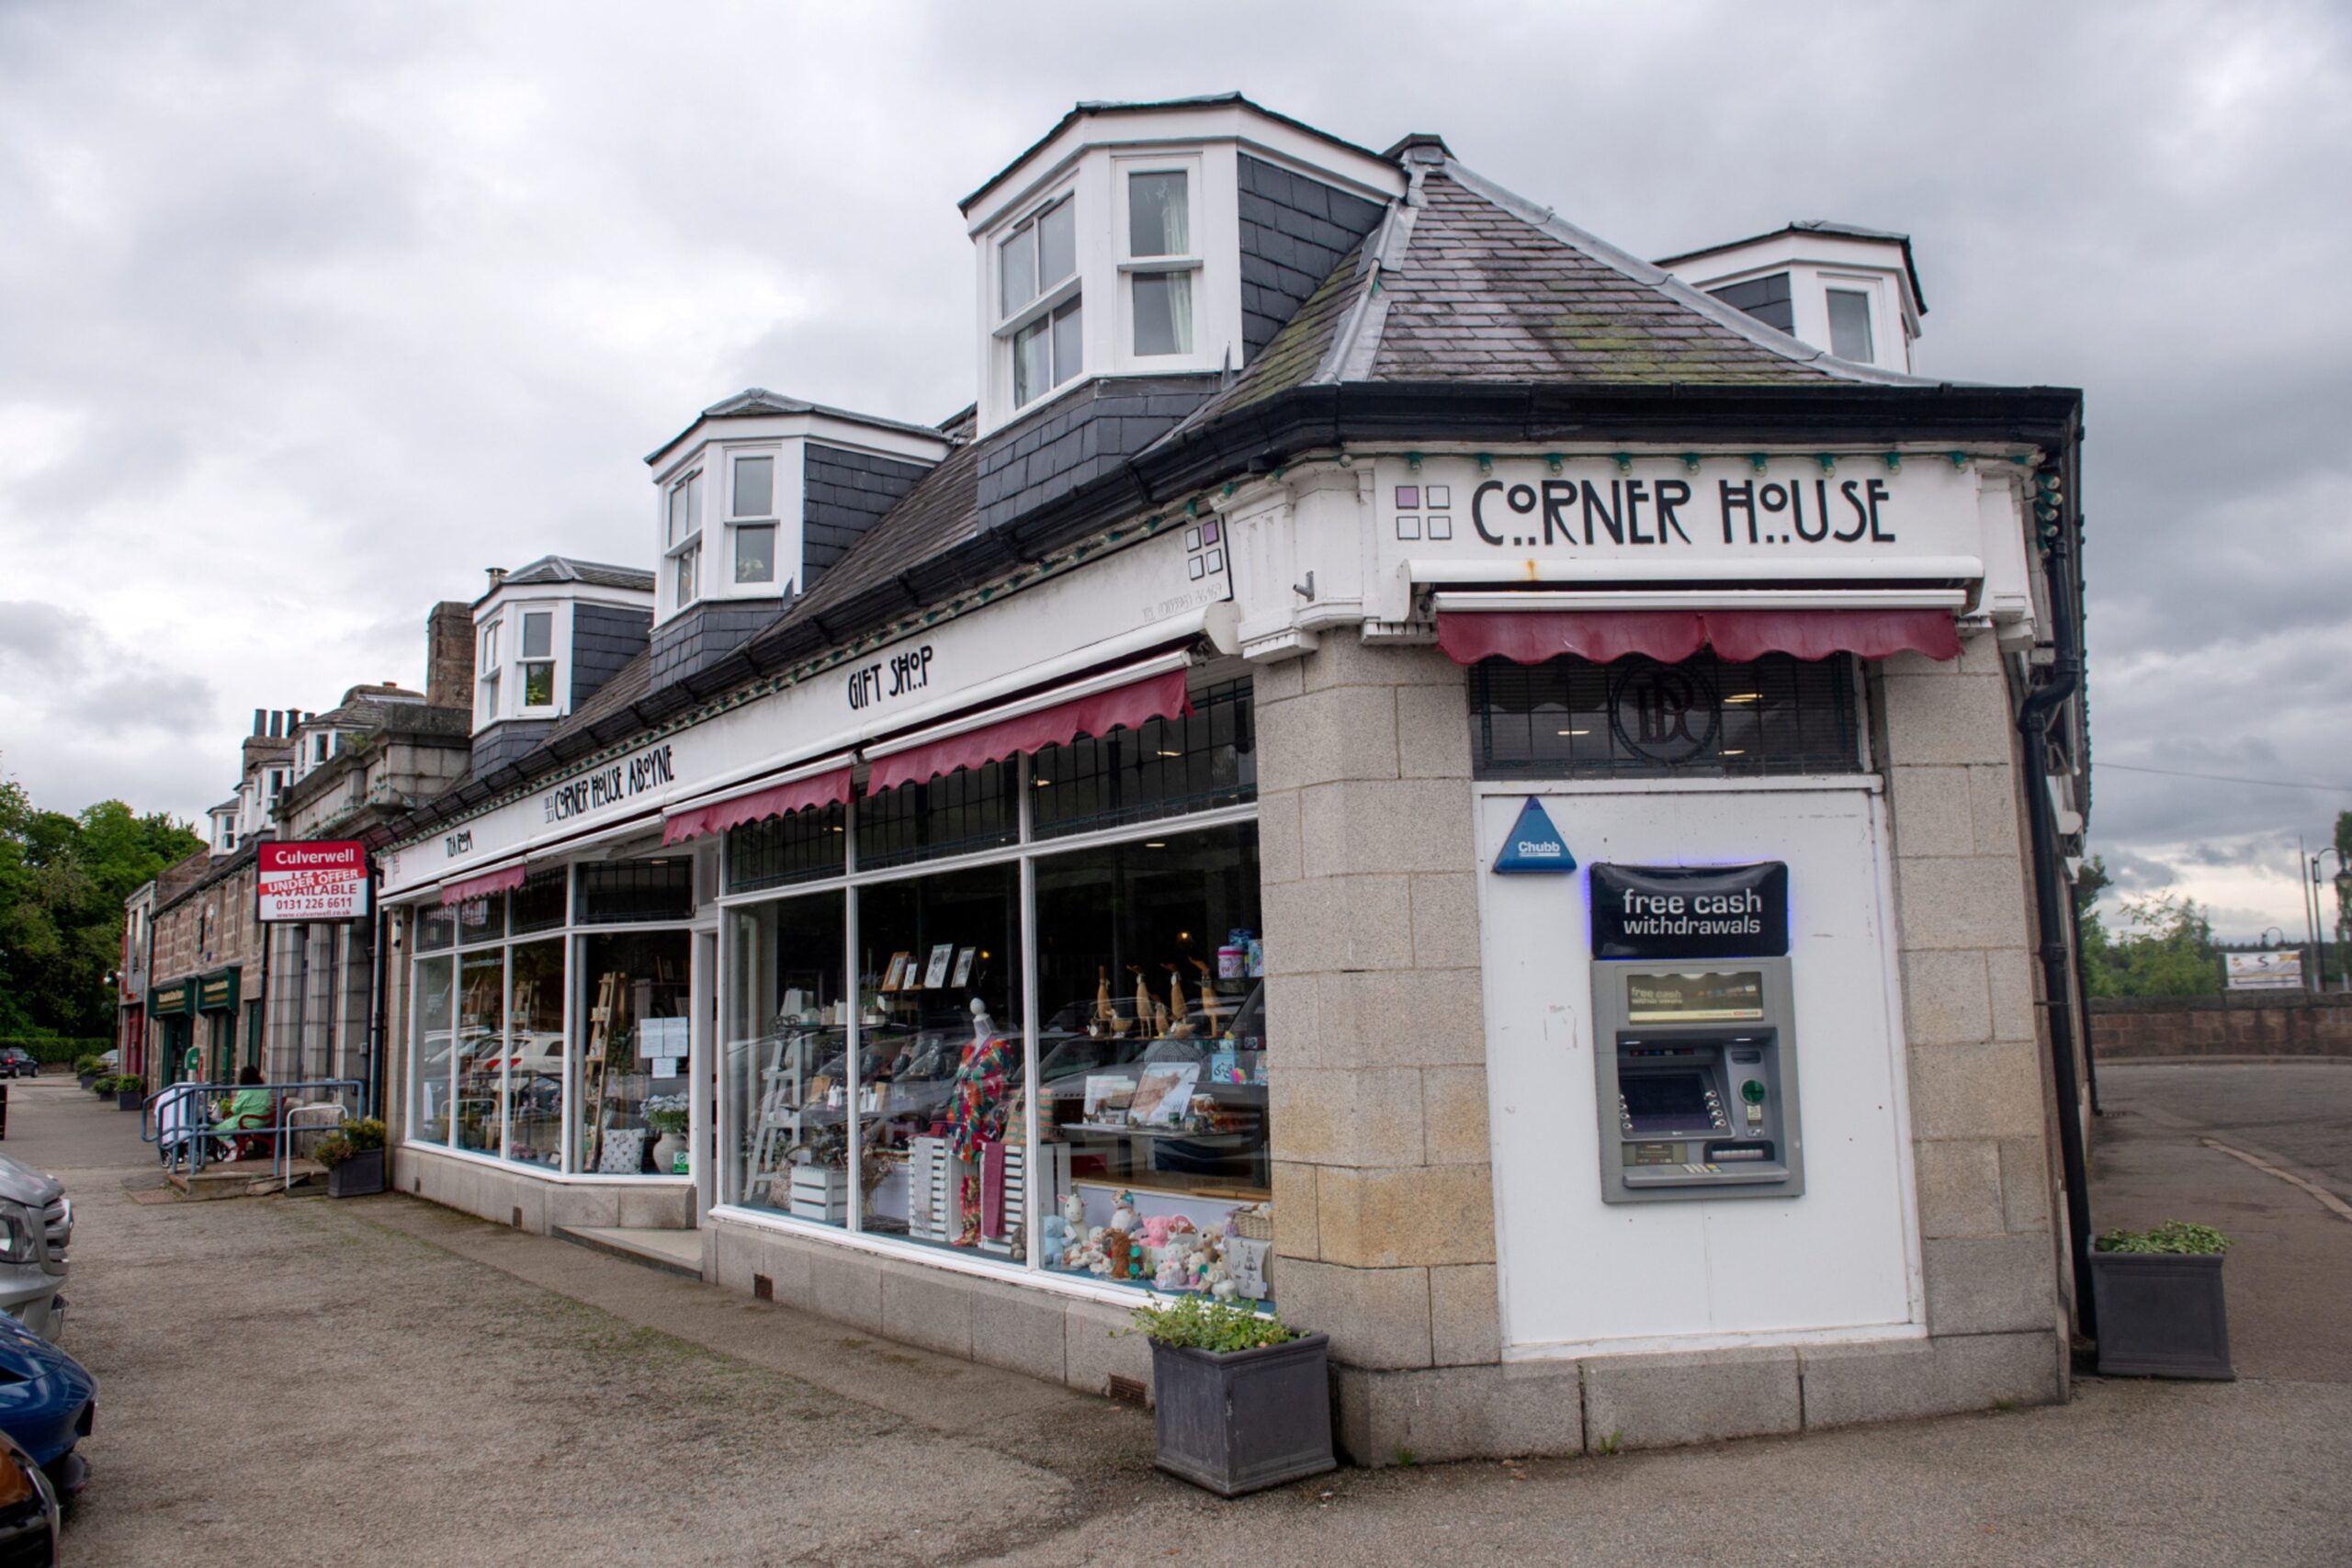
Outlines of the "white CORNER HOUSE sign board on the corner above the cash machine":
<svg viewBox="0 0 2352 1568">
<path fill-rule="evenodd" d="M 1950 458 L 1430 456 L 1376 470 L 1381 552 L 1416 581 L 1592 567 L 1637 576 L 1978 576 L 1980 480 Z M 1536 567 L 1529 571 L 1526 567 Z M 1762 571 L 1759 571 L 1762 567 Z M 1599 571 L 1585 571 L 1599 576 Z"/>
</svg>

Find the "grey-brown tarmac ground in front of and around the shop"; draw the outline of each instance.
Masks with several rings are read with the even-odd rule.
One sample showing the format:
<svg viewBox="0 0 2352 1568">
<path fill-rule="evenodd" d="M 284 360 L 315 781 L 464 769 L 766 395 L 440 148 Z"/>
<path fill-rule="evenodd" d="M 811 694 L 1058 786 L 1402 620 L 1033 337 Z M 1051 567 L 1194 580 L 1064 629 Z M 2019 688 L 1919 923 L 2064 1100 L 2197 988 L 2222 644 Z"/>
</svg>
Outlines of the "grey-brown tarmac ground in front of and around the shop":
<svg viewBox="0 0 2352 1568">
<path fill-rule="evenodd" d="M 1138 1410 L 414 1199 L 151 1201 L 132 1117 L 71 1081 L 19 1091 L 0 1147 L 80 1213 L 75 1566 L 2347 1563 L 2352 1326 L 2288 1260 L 2338 1267 L 2352 1225 L 2204 1150 L 2213 1095 L 2161 1072 L 2107 1074 L 2100 1218 L 2230 1206 L 2239 1382 L 1230 1505 L 1150 1469 Z"/>
</svg>

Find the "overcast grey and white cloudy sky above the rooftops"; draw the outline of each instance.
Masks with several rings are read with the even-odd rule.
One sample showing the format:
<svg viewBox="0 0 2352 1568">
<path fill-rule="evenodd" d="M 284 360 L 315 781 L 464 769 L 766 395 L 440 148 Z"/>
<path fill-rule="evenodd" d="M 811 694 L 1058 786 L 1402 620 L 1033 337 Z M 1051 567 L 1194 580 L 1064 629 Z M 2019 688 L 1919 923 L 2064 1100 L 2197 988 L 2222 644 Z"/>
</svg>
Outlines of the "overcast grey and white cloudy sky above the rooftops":
<svg viewBox="0 0 2352 1568">
<path fill-rule="evenodd" d="M 2352 806 L 2352 12 L 1127 14 L 0 0 L 0 771 L 202 811 L 252 708 L 421 684 L 485 567 L 647 559 L 706 402 L 950 414 L 955 200 L 1077 99 L 1237 87 L 1642 254 L 1907 230 L 1924 371 L 2089 393 L 2096 844 L 2300 929 Z"/>
</svg>

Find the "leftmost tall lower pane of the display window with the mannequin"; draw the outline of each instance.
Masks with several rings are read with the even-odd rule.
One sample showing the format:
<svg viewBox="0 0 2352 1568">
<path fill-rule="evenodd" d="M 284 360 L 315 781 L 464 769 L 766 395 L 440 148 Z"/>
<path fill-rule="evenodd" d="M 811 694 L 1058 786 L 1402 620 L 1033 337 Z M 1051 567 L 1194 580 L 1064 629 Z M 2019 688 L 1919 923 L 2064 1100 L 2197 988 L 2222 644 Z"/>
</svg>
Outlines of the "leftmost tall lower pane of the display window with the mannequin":
<svg viewBox="0 0 2352 1568">
<path fill-rule="evenodd" d="M 849 1222 L 847 893 L 729 912 L 727 1201 L 818 1225 Z M 875 1159 L 873 1201 L 898 1173 Z"/>
</svg>

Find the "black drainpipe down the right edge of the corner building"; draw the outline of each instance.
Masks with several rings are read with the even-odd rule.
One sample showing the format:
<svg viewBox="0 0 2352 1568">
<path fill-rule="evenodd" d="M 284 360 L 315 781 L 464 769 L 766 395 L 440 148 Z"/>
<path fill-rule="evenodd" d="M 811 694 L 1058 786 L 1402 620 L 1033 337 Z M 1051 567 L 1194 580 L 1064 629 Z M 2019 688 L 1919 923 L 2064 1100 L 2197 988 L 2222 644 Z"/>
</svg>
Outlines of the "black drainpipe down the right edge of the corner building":
<svg viewBox="0 0 2352 1568">
<path fill-rule="evenodd" d="M 2072 475 L 2070 475 L 2072 477 Z M 2072 512 L 2072 496 L 2065 498 Z M 2067 517 L 2065 522 L 2072 522 Z M 2034 839 L 2034 914 L 2042 936 L 2042 994 L 2051 1023 L 2051 1079 L 2058 1091 L 2058 1159 L 2065 1166 L 2067 1248 L 2074 1260 L 2074 1324 L 2098 1338 L 2091 1300 L 2091 1166 L 2084 1150 L 2082 1084 L 2074 1077 L 2074 966 L 2065 933 L 2072 924 L 2072 889 L 2058 853 L 2058 818 L 2049 795 L 2049 717 L 2082 686 L 2079 602 L 2072 590 L 2074 541 L 2065 522 L 2051 541 L 2042 574 L 2049 583 L 2051 677 L 2025 698 L 2018 733 L 2025 741 L 2025 816 Z"/>
</svg>

